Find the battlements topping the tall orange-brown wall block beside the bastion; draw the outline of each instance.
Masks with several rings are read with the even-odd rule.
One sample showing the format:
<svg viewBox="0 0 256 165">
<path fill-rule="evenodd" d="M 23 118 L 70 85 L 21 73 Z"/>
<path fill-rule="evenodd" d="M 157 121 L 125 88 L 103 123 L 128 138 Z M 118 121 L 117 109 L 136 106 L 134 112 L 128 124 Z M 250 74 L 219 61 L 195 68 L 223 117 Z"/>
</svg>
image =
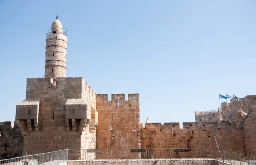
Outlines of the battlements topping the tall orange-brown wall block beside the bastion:
<svg viewBox="0 0 256 165">
<path fill-rule="evenodd" d="M 109 101 L 108 94 L 97 94 L 96 96 L 100 101 Z M 128 94 L 128 101 L 132 103 L 139 103 L 139 94 Z M 126 101 L 125 94 L 111 94 L 111 101 Z"/>
</svg>

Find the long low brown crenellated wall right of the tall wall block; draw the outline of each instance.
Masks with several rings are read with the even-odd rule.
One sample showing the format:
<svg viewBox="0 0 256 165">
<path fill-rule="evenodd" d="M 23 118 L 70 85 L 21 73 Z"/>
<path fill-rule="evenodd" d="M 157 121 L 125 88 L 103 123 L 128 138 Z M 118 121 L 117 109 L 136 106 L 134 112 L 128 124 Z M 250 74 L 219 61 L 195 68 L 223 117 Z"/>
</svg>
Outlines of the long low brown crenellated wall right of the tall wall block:
<svg viewBox="0 0 256 165">
<path fill-rule="evenodd" d="M 244 151 L 242 125 L 238 123 L 230 127 L 233 131 L 227 127 L 229 148 Z M 219 148 L 226 149 L 225 128 L 217 125 L 213 131 Z M 178 123 L 147 123 L 146 129 L 141 129 L 140 134 L 141 148 L 213 148 L 212 129 L 205 122 L 183 123 L 183 129 L 179 129 Z"/>
</svg>

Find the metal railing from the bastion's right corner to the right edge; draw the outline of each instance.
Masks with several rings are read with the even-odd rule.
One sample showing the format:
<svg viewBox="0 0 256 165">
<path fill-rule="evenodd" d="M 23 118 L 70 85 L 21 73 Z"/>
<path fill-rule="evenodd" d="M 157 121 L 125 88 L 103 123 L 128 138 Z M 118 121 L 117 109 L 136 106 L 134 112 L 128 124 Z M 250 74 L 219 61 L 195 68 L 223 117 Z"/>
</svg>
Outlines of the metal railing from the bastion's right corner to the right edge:
<svg viewBox="0 0 256 165">
<path fill-rule="evenodd" d="M 132 152 L 131 149 L 102 149 L 94 150 L 94 152 L 87 149 L 70 149 L 68 153 L 68 159 L 213 159 L 226 163 L 233 162 L 232 164 L 237 164 L 237 162 L 256 164 L 256 154 L 218 150 L 212 148 L 193 148 L 187 149 L 186 151 L 173 148 L 159 148 L 141 149 L 138 151 L 141 152 Z"/>
</svg>

